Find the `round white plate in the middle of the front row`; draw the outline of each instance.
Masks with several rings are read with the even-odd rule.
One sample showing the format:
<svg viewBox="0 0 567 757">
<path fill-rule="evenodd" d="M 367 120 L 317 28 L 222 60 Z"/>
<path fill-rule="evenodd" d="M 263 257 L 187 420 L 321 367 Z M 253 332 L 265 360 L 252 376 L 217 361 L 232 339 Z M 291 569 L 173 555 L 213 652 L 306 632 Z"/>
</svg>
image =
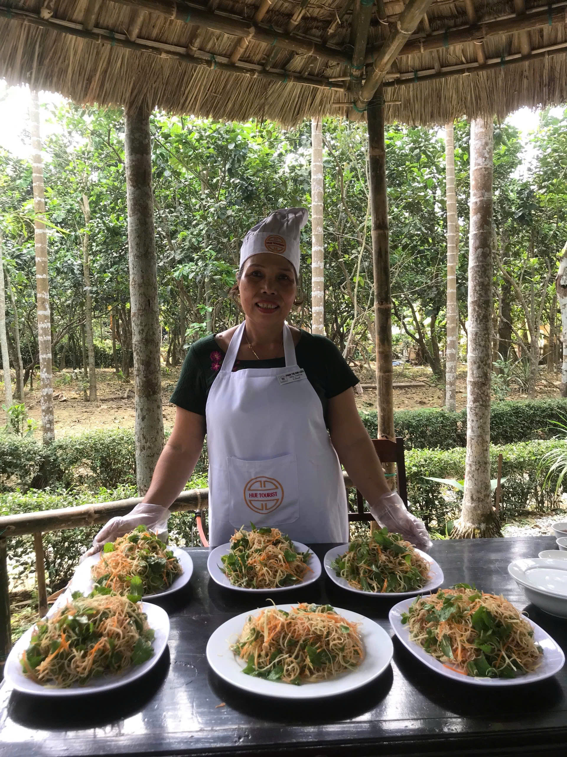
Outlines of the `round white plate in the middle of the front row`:
<svg viewBox="0 0 567 757">
<path fill-rule="evenodd" d="M 277 605 L 277 609 L 289 612 L 292 606 L 290 604 Z M 378 678 L 392 660 L 394 653 L 392 639 L 383 628 L 380 628 L 380 625 L 370 618 L 365 618 L 364 615 L 358 615 L 357 612 L 335 607 L 335 612 L 348 621 L 362 624 L 359 632 L 364 643 L 365 657 L 356 670 L 341 673 L 328 681 L 302 684 L 302 686 L 253 678 L 242 672 L 246 663 L 228 648 L 229 644 L 237 641 L 246 619 L 252 612 L 243 612 L 223 623 L 216 631 L 213 631 L 206 645 L 206 659 L 215 673 L 229 684 L 249 693 L 277 696 L 280 699 L 321 699 L 324 696 L 335 696 L 358 689 L 369 681 L 373 681 L 374 678 Z"/>
</svg>

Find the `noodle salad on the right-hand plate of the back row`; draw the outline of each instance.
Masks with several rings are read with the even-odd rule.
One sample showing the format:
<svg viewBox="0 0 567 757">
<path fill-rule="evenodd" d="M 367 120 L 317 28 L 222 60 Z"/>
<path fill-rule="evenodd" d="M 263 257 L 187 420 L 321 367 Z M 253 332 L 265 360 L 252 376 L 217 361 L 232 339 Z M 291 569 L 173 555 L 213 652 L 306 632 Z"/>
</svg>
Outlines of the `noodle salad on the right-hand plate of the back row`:
<svg viewBox="0 0 567 757">
<path fill-rule="evenodd" d="M 429 580 L 429 562 L 409 541 L 389 534 L 387 528 L 352 541 L 331 568 L 353 588 L 376 593 L 421 589 Z"/>
</svg>

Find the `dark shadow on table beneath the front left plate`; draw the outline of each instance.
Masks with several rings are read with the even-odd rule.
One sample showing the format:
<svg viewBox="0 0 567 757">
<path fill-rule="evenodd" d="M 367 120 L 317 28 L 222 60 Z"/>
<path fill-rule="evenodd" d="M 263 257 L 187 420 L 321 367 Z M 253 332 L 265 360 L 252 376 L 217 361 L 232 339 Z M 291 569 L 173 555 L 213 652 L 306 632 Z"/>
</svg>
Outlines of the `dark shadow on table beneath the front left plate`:
<svg viewBox="0 0 567 757">
<path fill-rule="evenodd" d="M 79 731 L 116 723 L 140 712 L 166 681 L 169 647 L 159 661 L 131 684 L 98 694 L 47 697 L 11 693 L 8 716 L 14 723 L 39 731 Z"/>
</svg>

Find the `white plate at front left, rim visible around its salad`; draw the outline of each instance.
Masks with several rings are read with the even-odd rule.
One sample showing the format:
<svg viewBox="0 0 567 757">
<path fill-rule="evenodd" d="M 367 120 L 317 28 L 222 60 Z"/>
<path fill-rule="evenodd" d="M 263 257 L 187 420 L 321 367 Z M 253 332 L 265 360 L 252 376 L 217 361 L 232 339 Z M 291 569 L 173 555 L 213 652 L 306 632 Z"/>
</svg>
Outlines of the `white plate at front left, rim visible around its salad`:
<svg viewBox="0 0 567 757">
<path fill-rule="evenodd" d="M 146 662 L 142 662 L 141 665 L 133 665 L 127 668 L 122 674 L 107 674 L 101 675 L 100 678 L 93 678 L 85 686 L 71 686 L 68 689 L 56 689 L 54 687 L 40 686 L 35 681 L 31 681 L 23 674 L 22 666 L 20 665 L 20 655 L 29 646 L 29 641 L 32 637 L 33 628 L 35 624 L 28 628 L 25 634 L 21 636 L 12 647 L 11 653 L 8 655 L 6 665 L 4 668 L 5 681 L 17 689 L 23 691 L 26 694 L 39 694 L 41 696 L 79 696 L 80 694 L 98 694 L 103 691 L 110 691 L 110 689 L 116 689 L 120 686 L 125 686 L 136 678 L 140 678 L 144 673 L 153 668 L 156 662 L 162 656 L 163 650 L 167 646 L 167 639 L 169 637 L 169 617 L 167 612 L 158 605 L 150 605 L 149 603 L 142 603 L 142 610 L 147 615 L 147 622 L 150 628 L 155 631 L 155 637 L 152 642 L 153 655 Z M 50 613 L 51 614 L 51 613 Z"/>
</svg>

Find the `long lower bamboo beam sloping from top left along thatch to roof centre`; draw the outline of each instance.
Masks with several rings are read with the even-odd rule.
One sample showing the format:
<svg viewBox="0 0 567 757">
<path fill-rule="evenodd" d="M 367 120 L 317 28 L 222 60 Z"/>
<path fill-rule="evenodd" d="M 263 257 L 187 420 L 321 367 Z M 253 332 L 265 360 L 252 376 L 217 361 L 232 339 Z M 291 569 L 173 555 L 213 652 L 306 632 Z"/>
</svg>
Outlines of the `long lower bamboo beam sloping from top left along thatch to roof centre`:
<svg viewBox="0 0 567 757">
<path fill-rule="evenodd" d="M 189 64 L 191 66 L 205 66 L 211 69 L 218 69 L 226 71 L 227 73 L 240 73 L 252 78 L 259 76 L 262 79 L 270 79 L 274 82 L 303 84 L 306 86 L 321 87 L 323 89 L 339 89 L 345 91 L 344 86 L 339 86 L 321 77 L 297 76 L 295 73 L 278 73 L 277 71 L 265 71 L 261 66 L 256 64 L 239 64 L 232 66 L 225 63 L 227 58 L 221 58 L 221 56 L 215 57 L 208 53 L 201 53 L 206 57 L 199 58 L 196 55 L 187 55 L 187 52 L 180 52 L 173 47 L 173 45 L 161 45 L 159 42 L 130 42 L 124 34 L 118 34 L 109 32 L 107 30 L 96 30 L 88 32 L 82 29 L 79 24 L 74 24 L 70 21 L 62 23 L 57 19 L 44 20 L 35 14 L 27 11 L 16 11 L 12 8 L 5 8 L 0 5 L 0 17 L 16 20 L 21 23 L 27 23 L 31 26 L 42 26 L 44 29 L 55 30 L 60 33 L 69 34 L 70 36 L 80 37 L 81 39 L 88 39 L 91 42 L 97 42 L 102 45 L 116 45 L 116 47 L 125 48 L 128 50 L 135 50 L 139 52 L 147 52 L 151 55 L 157 55 L 161 58 L 175 58 L 181 63 Z"/>
</svg>

